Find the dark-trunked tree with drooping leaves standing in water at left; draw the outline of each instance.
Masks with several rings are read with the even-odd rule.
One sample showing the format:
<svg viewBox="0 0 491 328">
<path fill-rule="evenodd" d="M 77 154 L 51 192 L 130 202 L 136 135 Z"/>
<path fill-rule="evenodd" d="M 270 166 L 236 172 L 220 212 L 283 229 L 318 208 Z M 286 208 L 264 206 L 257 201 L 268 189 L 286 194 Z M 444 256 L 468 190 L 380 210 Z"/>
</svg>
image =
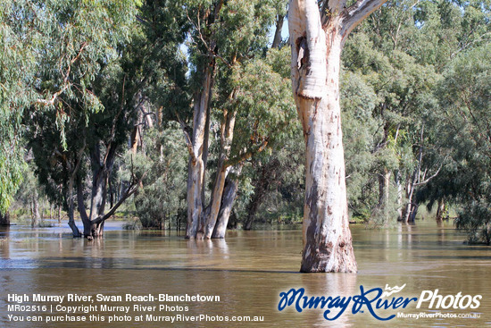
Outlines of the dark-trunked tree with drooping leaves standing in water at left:
<svg viewBox="0 0 491 328">
<path fill-rule="evenodd" d="M 34 49 L 37 66 L 29 85 L 36 110 L 25 115 L 30 141 L 40 141 L 31 145 L 39 180 L 47 189 L 61 186 L 58 193 L 64 194 L 74 236 L 80 235 L 74 222 L 77 188 L 84 235 L 100 235 L 104 220 L 117 208 L 104 213 L 105 189 L 116 149 L 126 140 L 118 127 L 129 117 L 121 112 L 131 102 L 125 98 L 125 74 L 115 63 L 121 58 L 118 47 L 129 40 L 136 2 L 54 1 L 23 4 L 21 10 L 33 12 L 33 29 L 42 36 Z M 83 197 L 86 151 L 93 172 L 89 214 Z"/>
</svg>

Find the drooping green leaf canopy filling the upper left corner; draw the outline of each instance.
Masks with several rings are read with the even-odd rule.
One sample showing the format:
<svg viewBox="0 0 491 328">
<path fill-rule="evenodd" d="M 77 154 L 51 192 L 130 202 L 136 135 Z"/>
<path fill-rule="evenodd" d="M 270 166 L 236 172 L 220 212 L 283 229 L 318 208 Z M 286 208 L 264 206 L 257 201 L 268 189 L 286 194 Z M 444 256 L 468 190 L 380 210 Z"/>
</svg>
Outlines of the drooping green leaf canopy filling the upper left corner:
<svg viewBox="0 0 491 328">
<path fill-rule="evenodd" d="M 118 56 L 134 20 L 132 1 L 9 1 L 0 3 L 0 211 L 7 210 L 23 167 L 21 118 L 27 108 L 54 112 L 66 148 L 73 109 L 102 109 L 91 83 Z M 61 97 L 64 100 L 61 100 Z M 86 119 L 87 124 L 87 119 Z"/>
</svg>

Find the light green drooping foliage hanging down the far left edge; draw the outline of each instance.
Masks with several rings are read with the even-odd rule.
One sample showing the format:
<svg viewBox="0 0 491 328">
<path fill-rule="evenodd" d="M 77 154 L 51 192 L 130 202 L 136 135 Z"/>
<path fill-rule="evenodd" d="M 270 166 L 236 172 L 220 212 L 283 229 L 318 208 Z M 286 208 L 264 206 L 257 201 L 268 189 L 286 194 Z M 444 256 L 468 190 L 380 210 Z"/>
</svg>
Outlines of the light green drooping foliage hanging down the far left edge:
<svg viewBox="0 0 491 328">
<path fill-rule="evenodd" d="M 21 148 L 21 116 L 33 95 L 37 34 L 18 17 L 24 2 L 0 2 L 0 214 L 4 214 L 22 181 L 25 167 Z M 31 13 L 24 13 L 30 16 Z"/>
</svg>

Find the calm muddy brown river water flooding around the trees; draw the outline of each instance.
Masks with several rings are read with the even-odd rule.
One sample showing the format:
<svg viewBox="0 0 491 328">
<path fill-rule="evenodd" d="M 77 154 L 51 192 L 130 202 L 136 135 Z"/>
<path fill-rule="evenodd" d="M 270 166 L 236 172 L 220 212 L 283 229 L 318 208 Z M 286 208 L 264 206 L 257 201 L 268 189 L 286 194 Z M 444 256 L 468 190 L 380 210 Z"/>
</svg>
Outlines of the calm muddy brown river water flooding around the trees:
<svg viewBox="0 0 491 328">
<path fill-rule="evenodd" d="M 98 327 L 98 326 L 185 326 L 185 327 L 304 327 L 304 326 L 429 326 L 450 327 L 491 326 L 491 248 L 468 246 L 462 241 L 465 236 L 455 231 L 452 223 L 437 226 L 426 221 L 416 225 L 399 225 L 393 230 L 366 230 L 352 226 L 354 251 L 358 261 L 357 274 L 344 273 L 298 273 L 301 259 L 302 231 L 229 231 L 227 240 L 184 240 L 175 232 L 123 231 L 120 223 L 107 223 L 103 240 L 72 239 L 65 228 L 31 229 L 12 226 L 0 231 L 0 326 L 4 327 Z M 304 288 L 308 296 L 354 296 L 364 290 L 385 289 L 402 286 L 404 290 L 393 297 L 418 298 L 423 290 L 438 290 L 442 296 L 481 295 L 480 307 L 476 309 L 435 309 L 429 302 L 416 308 L 412 301 L 406 308 L 380 310 L 381 317 L 406 314 L 456 314 L 480 315 L 476 318 L 420 318 L 395 317 L 382 322 L 370 315 L 366 307 L 352 314 L 353 302 L 345 313 L 334 321 L 327 321 L 325 309 L 305 309 L 302 313 L 287 307 L 279 312 L 279 293 L 292 288 Z M 123 301 L 93 303 L 99 306 L 89 314 L 111 315 L 121 319 L 124 313 L 104 312 L 101 305 L 129 306 L 130 323 L 32 323 L 27 315 L 41 315 L 43 311 L 8 311 L 9 294 L 29 296 L 24 305 L 58 304 L 32 302 L 33 294 L 79 296 L 103 294 L 122 296 Z M 218 302 L 125 301 L 132 295 L 205 295 L 220 296 Z M 375 295 L 370 294 L 370 298 Z M 145 312 L 133 306 L 159 306 L 166 304 L 175 308 Z M 84 302 L 67 302 L 62 305 L 88 305 Z M 187 307 L 179 311 L 177 307 Z M 174 310 L 174 311 L 170 311 Z M 55 312 L 55 311 L 54 311 Z M 332 308 L 329 317 L 339 309 Z M 179 322 L 142 323 L 134 321 L 137 315 L 216 315 L 261 316 L 261 323 L 243 322 Z M 8 315 L 23 316 L 23 322 L 9 321 Z M 57 313 L 61 315 L 61 313 Z M 116 318 L 114 318 L 116 319 Z"/>
</svg>

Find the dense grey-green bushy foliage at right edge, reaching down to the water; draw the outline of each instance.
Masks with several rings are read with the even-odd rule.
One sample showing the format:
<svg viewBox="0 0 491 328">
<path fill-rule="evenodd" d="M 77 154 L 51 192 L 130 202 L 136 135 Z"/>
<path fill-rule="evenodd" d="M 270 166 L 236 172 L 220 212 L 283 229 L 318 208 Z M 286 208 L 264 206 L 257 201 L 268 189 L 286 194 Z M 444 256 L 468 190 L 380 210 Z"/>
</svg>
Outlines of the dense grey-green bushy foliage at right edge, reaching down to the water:
<svg viewBox="0 0 491 328">
<path fill-rule="evenodd" d="M 457 227 L 470 241 L 489 244 L 491 204 L 491 45 L 457 56 L 438 88 L 442 137 L 451 151 L 445 181 L 437 181 L 448 198 L 462 205 Z"/>
</svg>

